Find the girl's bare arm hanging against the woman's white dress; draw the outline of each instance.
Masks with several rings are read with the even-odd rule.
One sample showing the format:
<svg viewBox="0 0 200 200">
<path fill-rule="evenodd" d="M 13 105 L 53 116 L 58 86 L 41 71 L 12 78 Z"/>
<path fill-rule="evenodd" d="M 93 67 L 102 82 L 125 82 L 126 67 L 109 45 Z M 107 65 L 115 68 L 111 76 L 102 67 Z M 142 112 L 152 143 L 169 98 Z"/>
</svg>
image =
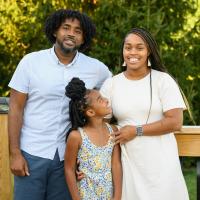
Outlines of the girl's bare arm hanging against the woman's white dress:
<svg viewBox="0 0 200 200">
<path fill-rule="evenodd" d="M 114 146 L 112 154 L 113 200 L 121 200 L 122 195 L 122 165 L 119 144 Z"/>
</svg>

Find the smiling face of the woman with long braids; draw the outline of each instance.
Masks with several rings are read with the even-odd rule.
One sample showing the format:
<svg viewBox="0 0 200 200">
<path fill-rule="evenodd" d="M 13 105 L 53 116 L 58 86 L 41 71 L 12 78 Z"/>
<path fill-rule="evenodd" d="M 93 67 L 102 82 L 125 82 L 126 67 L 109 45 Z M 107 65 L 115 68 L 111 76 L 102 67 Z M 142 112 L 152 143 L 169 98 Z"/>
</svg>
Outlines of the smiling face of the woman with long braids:
<svg viewBox="0 0 200 200">
<path fill-rule="evenodd" d="M 127 70 L 146 69 L 148 55 L 147 45 L 140 36 L 131 33 L 125 38 L 123 57 L 127 65 Z"/>
</svg>

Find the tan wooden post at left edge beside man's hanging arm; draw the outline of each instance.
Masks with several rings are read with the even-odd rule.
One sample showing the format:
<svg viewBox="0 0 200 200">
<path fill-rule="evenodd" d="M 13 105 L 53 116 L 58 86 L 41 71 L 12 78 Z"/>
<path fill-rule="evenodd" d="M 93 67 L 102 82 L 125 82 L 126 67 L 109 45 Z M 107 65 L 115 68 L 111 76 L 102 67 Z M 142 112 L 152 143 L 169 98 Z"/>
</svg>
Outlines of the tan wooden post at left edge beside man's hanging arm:
<svg viewBox="0 0 200 200">
<path fill-rule="evenodd" d="M 7 114 L 0 114 L 0 199 L 13 199 L 13 176 L 9 167 Z"/>
</svg>

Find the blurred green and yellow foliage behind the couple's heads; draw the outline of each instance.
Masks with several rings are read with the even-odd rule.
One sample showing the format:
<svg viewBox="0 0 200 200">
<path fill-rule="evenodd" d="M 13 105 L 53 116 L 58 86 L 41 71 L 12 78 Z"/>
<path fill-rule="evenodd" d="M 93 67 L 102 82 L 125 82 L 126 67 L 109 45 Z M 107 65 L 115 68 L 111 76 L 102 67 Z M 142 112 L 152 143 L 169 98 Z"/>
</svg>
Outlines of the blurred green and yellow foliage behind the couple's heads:
<svg viewBox="0 0 200 200">
<path fill-rule="evenodd" d="M 87 13 L 97 26 L 86 52 L 120 71 L 121 43 L 132 27 L 150 30 L 163 61 L 184 91 L 200 124 L 200 3 L 198 0 L 0 0 L 0 96 L 20 59 L 49 48 L 43 33 L 46 17 L 59 8 Z M 185 124 L 192 124 L 185 115 Z"/>
</svg>

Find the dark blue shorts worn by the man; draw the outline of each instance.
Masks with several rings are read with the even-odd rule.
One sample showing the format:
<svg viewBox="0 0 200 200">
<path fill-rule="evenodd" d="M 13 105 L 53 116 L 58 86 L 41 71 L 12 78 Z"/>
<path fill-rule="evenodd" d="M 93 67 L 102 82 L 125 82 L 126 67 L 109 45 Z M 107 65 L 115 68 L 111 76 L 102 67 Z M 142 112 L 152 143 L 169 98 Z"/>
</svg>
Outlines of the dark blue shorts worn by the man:
<svg viewBox="0 0 200 200">
<path fill-rule="evenodd" d="M 15 176 L 14 200 L 71 200 L 58 151 L 53 160 L 22 153 L 30 176 Z"/>
</svg>

